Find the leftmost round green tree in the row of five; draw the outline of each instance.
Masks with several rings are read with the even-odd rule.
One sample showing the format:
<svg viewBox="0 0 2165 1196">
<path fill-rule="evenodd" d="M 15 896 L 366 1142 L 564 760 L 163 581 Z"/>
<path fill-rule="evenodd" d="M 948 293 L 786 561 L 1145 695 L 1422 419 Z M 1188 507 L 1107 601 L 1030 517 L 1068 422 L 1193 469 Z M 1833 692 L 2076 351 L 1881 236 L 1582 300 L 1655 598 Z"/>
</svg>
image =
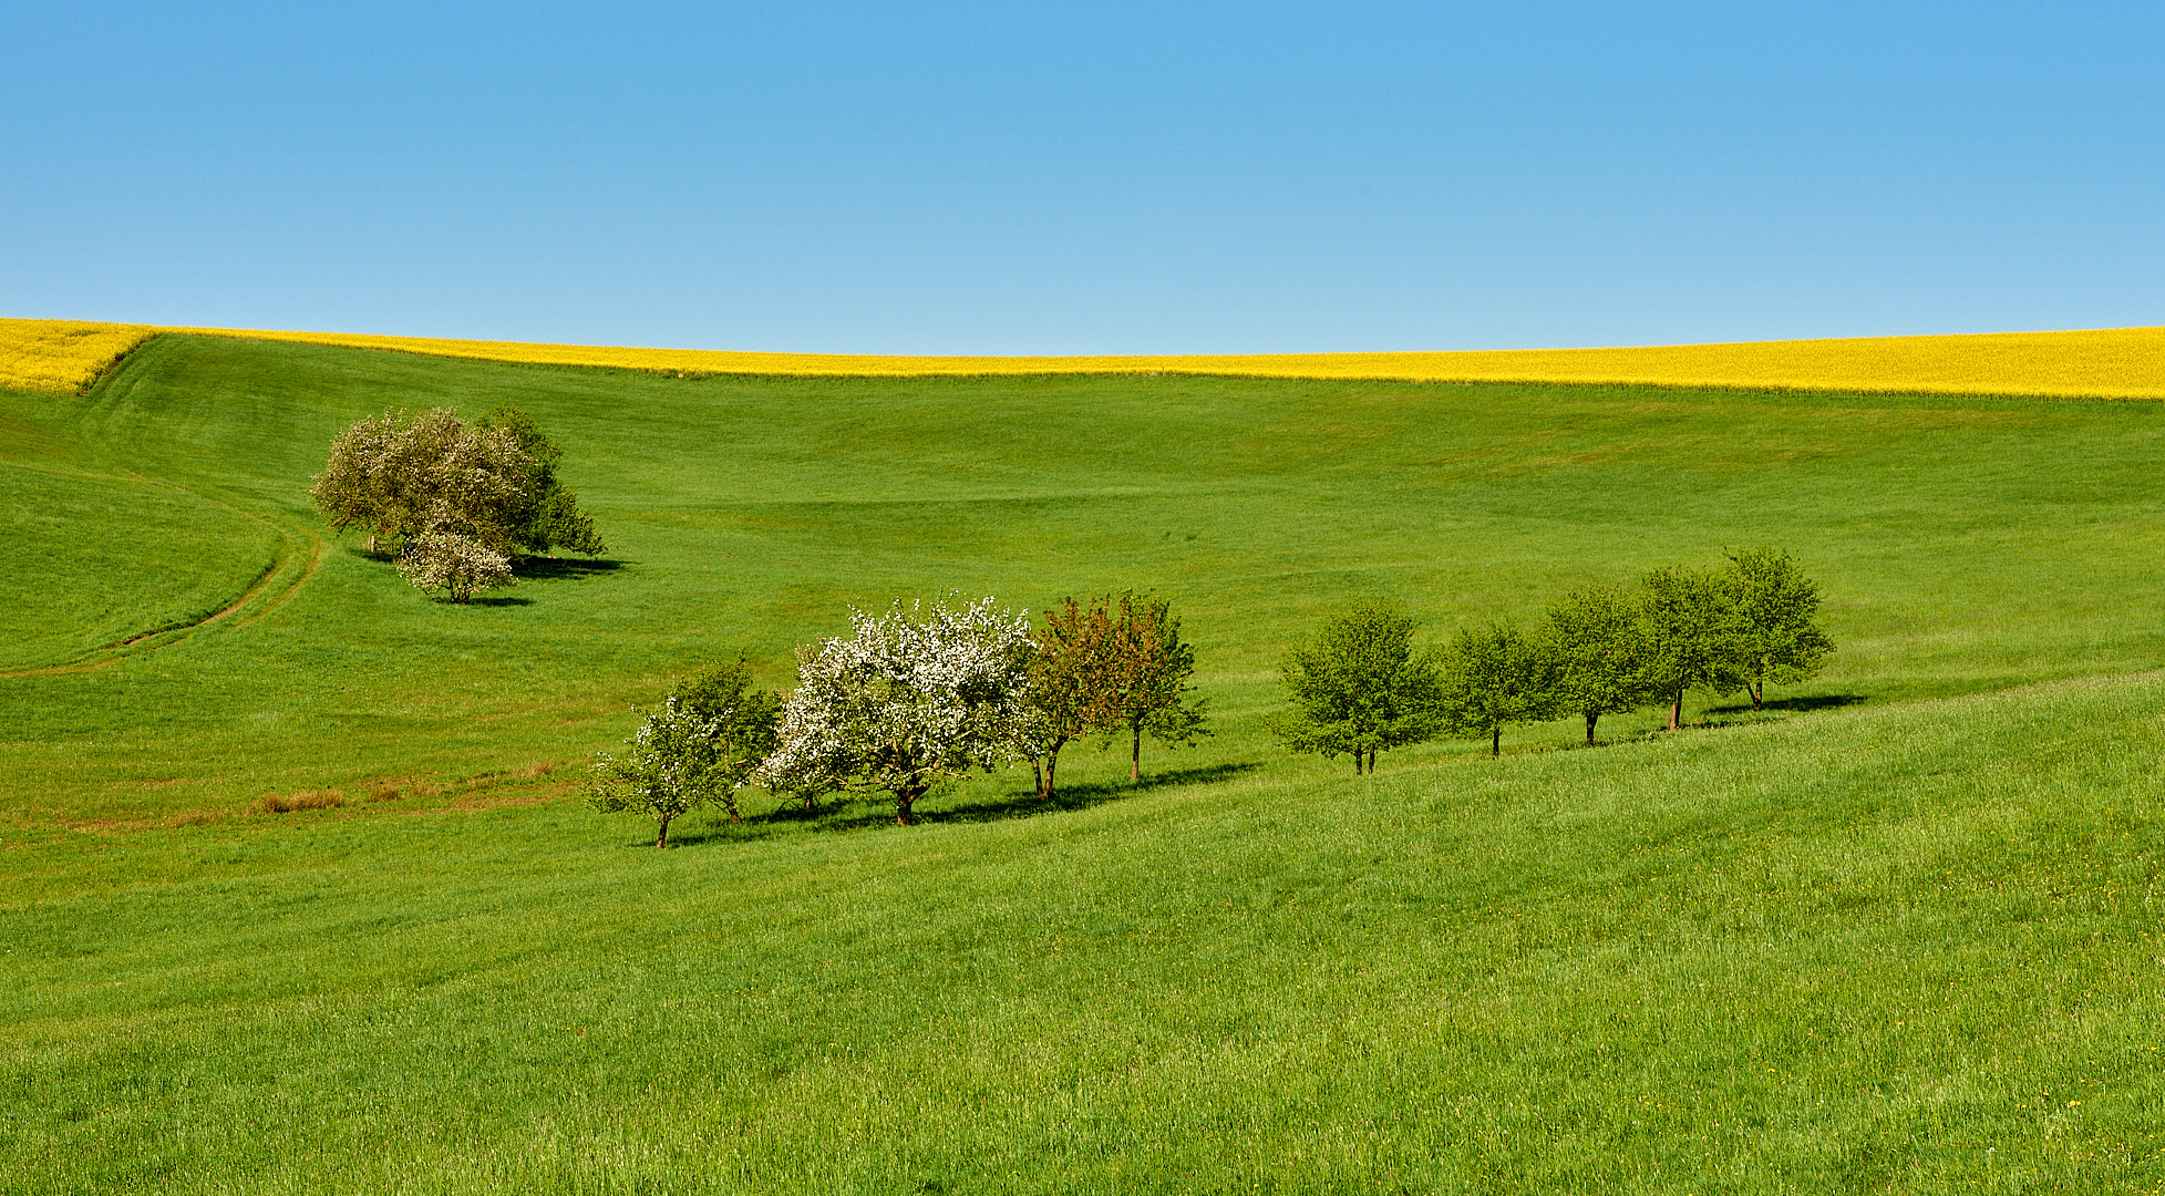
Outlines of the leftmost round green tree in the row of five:
<svg viewBox="0 0 2165 1196">
<path fill-rule="evenodd" d="M 1325 760 L 1353 756 L 1375 771 L 1375 754 L 1435 734 L 1435 665 L 1414 654 L 1414 618 L 1394 602 L 1355 602 L 1277 665 L 1290 711 L 1269 719 L 1295 752 Z"/>
</svg>

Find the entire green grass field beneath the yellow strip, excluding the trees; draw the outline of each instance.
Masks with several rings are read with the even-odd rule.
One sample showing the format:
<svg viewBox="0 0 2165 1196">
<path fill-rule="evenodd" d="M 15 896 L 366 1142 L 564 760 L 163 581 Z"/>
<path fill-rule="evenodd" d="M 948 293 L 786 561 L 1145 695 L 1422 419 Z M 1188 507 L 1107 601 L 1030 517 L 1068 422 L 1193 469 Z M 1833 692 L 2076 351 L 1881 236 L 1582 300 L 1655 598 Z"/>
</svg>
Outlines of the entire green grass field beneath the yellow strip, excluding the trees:
<svg viewBox="0 0 2165 1196">
<path fill-rule="evenodd" d="M 310 511 L 353 418 L 502 401 L 606 561 L 448 607 Z M 160 338 L 0 394 L 0 1187 L 2159 1190 L 2161 448 L 2152 403 Z M 1745 544 L 1840 646 L 1767 715 L 1360 780 L 1262 734 L 1347 598 L 1442 637 Z M 704 656 L 1124 585 L 1219 726 L 1141 789 L 1085 745 L 1052 804 L 675 851 L 569 800 Z M 344 804 L 251 812 L 301 791 Z"/>
</svg>

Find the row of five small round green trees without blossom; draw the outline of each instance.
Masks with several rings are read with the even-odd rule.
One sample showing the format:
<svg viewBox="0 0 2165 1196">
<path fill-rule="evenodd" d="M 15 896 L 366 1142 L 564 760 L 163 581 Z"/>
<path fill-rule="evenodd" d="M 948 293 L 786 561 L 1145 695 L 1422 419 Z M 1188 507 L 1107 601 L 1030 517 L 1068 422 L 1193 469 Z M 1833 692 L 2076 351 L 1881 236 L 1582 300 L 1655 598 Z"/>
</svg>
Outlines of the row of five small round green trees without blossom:
<svg viewBox="0 0 2165 1196">
<path fill-rule="evenodd" d="M 1723 568 L 1650 570 L 1637 587 L 1585 585 L 1548 607 L 1537 628 L 1461 628 L 1440 650 L 1414 650 L 1414 620 L 1360 602 L 1286 654 L 1290 708 L 1271 728 L 1295 752 L 1353 756 L 1440 734 L 1487 739 L 1511 724 L 1580 715 L 1587 743 L 1602 715 L 1652 704 L 1682 722 L 1693 689 L 1747 693 L 1816 676 L 1834 650 L 1819 626 L 1819 585 L 1775 548 L 1732 552 Z"/>
</svg>

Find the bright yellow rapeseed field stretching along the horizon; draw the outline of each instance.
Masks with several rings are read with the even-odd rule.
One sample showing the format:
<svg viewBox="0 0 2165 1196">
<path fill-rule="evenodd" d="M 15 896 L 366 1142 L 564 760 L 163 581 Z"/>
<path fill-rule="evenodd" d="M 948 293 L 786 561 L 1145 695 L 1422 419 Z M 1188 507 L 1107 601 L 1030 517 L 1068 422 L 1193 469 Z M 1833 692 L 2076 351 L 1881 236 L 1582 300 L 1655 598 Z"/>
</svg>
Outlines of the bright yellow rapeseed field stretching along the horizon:
<svg viewBox="0 0 2165 1196">
<path fill-rule="evenodd" d="M 0 321 L 0 355 L 15 325 Z M 63 327 L 63 325 L 50 325 Z M 853 353 L 734 353 L 712 349 L 613 349 L 589 344 L 517 344 L 504 340 L 431 340 L 338 332 L 245 332 L 216 327 L 110 329 L 119 344 L 147 332 L 195 332 L 258 340 L 299 340 L 392 349 L 439 358 L 615 366 L 695 375 L 1041 375 L 1041 373 L 1189 373 L 1241 377 L 1403 379 L 1403 381 L 1559 381 L 1628 386 L 1704 386 L 1736 390 L 1866 390 L 1927 394 L 2048 394 L 2065 399 L 2165 399 L 2165 327 L 2091 332 L 1994 332 L 1977 336 L 1873 336 L 1849 340 L 1751 340 L 1738 344 L 1665 344 L 1641 349 L 1496 349 L 1461 353 L 1256 353 L 1182 358 L 875 358 Z M 84 336 L 84 334 L 76 334 Z M 28 334 L 22 336 L 26 342 Z M 50 338 L 48 338 L 50 340 Z M 37 340 L 43 344 L 48 340 Z M 128 342 L 132 344 L 132 342 Z M 0 358 L 13 362 L 13 358 Z M 26 366 L 15 366 L 26 368 Z M 80 384 L 82 366 L 41 366 L 39 377 Z M 6 384 L 9 375 L 0 375 Z M 41 386 L 52 390 L 54 386 Z"/>
</svg>

